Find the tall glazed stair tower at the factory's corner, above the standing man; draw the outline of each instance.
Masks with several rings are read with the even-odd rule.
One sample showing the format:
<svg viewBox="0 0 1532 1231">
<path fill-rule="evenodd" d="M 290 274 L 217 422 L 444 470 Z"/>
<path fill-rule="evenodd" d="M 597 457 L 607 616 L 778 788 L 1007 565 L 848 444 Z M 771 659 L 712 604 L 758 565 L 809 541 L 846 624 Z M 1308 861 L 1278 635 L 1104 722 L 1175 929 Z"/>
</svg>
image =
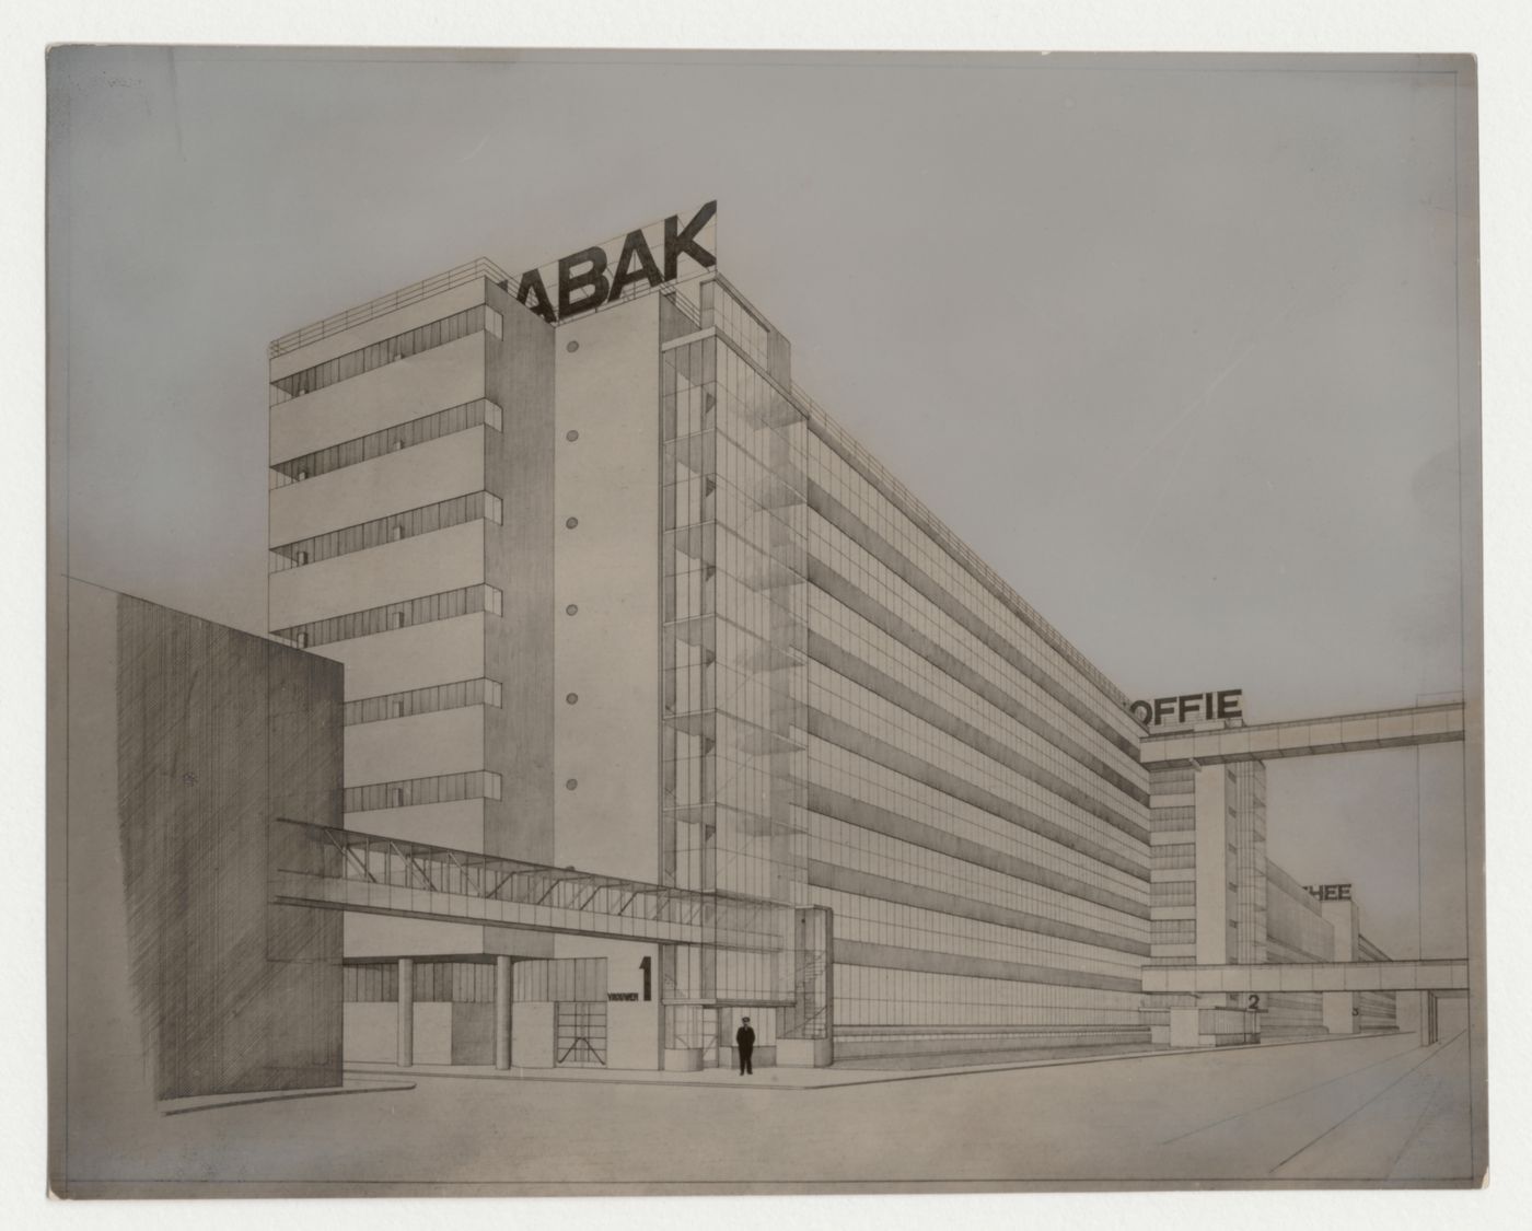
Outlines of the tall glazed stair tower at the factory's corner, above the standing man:
<svg viewBox="0 0 1532 1231">
<path fill-rule="evenodd" d="M 699 292 L 660 320 L 662 879 L 801 906 L 804 418 L 764 371 L 768 326 Z M 666 946 L 666 1046 L 717 1063 L 719 1006 L 791 1001 L 794 980 L 791 935 Z"/>
</svg>

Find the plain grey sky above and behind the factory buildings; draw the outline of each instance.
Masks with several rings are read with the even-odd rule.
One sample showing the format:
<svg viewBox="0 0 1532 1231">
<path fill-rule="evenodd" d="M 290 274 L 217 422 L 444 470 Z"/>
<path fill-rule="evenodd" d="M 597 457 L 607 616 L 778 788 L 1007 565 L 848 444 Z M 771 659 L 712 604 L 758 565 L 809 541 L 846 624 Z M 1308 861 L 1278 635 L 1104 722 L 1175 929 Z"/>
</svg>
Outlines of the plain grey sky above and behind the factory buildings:
<svg viewBox="0 0 1532 1231">
<path fill-rule="evenodd" d="M 1386 69 L 55 52 L 67 571 L 264 631 L 271 338 L 717 199 L 797 383 L 1131 697 L 1462 689 L 1455 96 Z M 1462 951 L 1457 746 L 1268 778 L 1278 862 Z"/>
</svg>

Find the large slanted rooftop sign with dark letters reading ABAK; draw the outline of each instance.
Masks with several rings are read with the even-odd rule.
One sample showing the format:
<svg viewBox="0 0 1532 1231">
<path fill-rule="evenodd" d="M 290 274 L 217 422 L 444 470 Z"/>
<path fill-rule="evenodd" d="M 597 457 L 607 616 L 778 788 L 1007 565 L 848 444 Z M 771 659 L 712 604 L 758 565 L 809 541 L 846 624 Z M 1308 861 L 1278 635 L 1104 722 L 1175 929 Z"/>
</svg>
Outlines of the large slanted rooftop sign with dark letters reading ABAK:
<svg viewBox="0 0 1532 1231">
<path fill-rule="evenodd" d="M 558 325 L 634 292 L 648 294 L 697 277 L 719 263 L 717 213 L 719 202 L 709 201 L 689 222 L 671 214 L 620 239 L 527 269 L 516 302 Z"/>
</svg>

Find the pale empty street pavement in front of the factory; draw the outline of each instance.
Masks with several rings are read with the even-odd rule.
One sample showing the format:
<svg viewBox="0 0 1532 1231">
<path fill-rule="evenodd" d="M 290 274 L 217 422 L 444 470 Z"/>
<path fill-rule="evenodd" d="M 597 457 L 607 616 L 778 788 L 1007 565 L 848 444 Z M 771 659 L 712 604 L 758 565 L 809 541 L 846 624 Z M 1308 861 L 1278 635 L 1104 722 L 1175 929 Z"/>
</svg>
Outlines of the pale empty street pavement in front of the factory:
<svg viewBox="0 0 1532 1231">
<path fill-rule="evenodd" d="M 409 1078 L 417 1089 L 156 1116 L 110 1174 L 97 1174 L 150 1179 L 173 1165 L 210 1180 L 349 1177 L 440 1191 L 1469 1174 L 1466 1035 L 1432 1047 L 1382 1035 L 968 1073 L 858 1072 L 818 1087 L 725 1073 L 686 1084 L 423 1069 Z M 75 1153 L 77 1174 L 90 1154 Z"/>
</svg>

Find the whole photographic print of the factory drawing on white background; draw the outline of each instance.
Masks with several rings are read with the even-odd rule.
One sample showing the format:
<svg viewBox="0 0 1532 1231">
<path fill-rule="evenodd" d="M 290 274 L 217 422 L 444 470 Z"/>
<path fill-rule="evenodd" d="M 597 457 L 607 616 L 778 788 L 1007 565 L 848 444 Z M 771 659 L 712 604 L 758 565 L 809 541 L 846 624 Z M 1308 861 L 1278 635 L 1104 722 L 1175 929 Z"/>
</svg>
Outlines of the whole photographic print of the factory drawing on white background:
<svg viewBox="0 0 1532 1231">
<path fill-rule="evenodd" d="M 47 77 L 57 1196 L 1483 1184 L 1471 57 Z"/>
</svg>

